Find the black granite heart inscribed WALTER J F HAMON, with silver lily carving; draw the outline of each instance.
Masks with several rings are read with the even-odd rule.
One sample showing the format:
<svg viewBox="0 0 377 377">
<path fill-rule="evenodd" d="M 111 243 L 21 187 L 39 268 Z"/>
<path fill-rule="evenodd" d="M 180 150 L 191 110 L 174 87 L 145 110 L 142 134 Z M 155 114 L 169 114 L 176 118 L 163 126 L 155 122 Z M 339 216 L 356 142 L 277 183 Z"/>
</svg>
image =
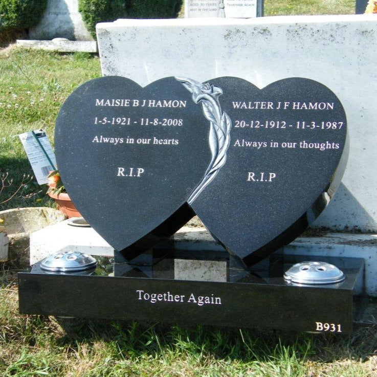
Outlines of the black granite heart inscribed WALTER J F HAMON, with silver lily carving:
<svg viewBox="0 0 377 377">
<path fill-rule="evenodd" d="M 235 77 L 210 83 L 185 85 L 204 112 L 211 103 L 203 96 L 223 92 L 221 106 L 212 101 L 219 111 L 209 140 L 222 164 L 212 158 L 211 182 L 204 179 L 189 202 L 230 253 L 252 264 L 296 238 L 327 205 L 347 160 L 346 117 L 336 95 L 313 80 L 262 90 Z"/>
</svg>

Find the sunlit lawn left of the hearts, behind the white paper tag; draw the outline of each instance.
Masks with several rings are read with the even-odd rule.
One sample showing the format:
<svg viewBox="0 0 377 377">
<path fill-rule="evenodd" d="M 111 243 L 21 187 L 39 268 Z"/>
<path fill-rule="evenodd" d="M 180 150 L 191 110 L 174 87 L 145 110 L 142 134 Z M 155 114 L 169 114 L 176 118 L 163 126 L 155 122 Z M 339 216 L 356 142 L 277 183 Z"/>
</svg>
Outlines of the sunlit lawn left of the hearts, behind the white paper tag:
<svg viewBox="0 0 377 377">
<path fill-rule="evenodd" d="M 43 128 L 54 141 L 55 119 L 66 97 L 83 82 L 101 75 L 98 56 L 12 48 L 0 52 L 0 172 L 14 182 L 0 195 L 5 201 L 32 174 L 18 134 Z M 0 186 L 1 188 L 1 186 Z M 32 197 L 25 197 L 38 192 Z M 21 192 L 23 191 L 23 192 Z M 50 205 L 46 186 L 34 181 L 0 209 Z"/>
</svg>

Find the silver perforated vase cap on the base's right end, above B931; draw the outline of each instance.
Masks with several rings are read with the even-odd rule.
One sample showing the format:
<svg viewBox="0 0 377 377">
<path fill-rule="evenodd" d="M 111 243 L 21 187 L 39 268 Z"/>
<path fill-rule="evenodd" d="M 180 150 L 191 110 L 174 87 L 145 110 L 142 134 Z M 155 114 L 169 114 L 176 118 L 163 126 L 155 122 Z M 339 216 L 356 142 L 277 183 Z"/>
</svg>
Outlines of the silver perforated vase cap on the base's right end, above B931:
<svg viewBox="0 0 377 377">
<path fill-rule="evenodd" d="M 345 276 L 333 264 L 308 261 L 294 264 L 284 279 L 300 284 L 334 284 L 343 281 Z"/>
</svg>

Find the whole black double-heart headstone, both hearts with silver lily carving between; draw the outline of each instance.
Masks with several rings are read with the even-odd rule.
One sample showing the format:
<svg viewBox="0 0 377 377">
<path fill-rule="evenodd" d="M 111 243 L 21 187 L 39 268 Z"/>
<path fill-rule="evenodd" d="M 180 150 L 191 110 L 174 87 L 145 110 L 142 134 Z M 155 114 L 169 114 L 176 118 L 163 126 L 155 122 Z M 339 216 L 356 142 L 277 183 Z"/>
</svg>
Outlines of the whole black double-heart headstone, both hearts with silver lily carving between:
<svg viewBox="0 0 377 377">
<path fill-rule="evenodd" d="M 136 256 L 195 212 L 252 264 L 327 205 L 346 135 L 339 99 L 309 79 L 103 77 L 64 103 L 55 143 L 74 203 L 116 250 Z"/>
</svg>

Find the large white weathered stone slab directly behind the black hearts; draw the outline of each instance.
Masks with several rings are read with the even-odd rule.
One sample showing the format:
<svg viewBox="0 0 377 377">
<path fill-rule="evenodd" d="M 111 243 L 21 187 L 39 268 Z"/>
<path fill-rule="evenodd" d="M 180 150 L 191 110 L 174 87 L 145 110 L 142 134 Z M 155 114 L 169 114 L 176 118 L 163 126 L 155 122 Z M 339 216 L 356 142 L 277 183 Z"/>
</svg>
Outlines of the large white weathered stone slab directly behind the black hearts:
<svg viewBox="0 0 377 377">
<path fill-rule="evenodd" d="M 145 86 L 168 76 L 236 76 L 262 88 L 319 81 L 342 102 L 350 155 L 342 184 L 315 225 L 377 232 L 375 15 L 118 20 L 97 26 L 103 75 Z"/>
</svg>

